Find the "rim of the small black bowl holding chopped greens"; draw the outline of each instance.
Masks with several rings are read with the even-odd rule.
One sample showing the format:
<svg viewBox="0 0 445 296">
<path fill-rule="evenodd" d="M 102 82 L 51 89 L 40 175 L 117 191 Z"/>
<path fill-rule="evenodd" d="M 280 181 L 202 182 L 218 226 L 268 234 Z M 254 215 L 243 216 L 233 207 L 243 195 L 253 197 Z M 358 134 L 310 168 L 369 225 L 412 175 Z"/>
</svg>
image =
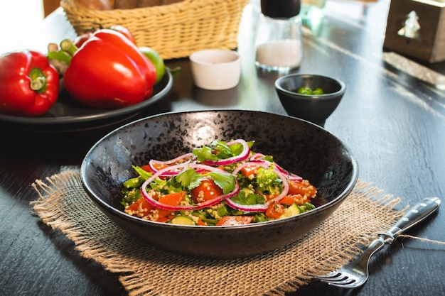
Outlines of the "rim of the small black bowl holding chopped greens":
<svg viewBox="0 0 445 296">
<path fill-rule="evenodd" d="M 340 84 L 340 89 L 337 92 L 329 92 L 328 94 L 305 95 L 291 92 L 289 89 L 285 89 L 284 87 L 282 87 L 282 82 L 284 82 L 284 80 L 291 80 L 294 77 L 321 77 L 323 79 L 332 80 L 333 82 Z M 299 96 L 299 99 L 331 99 L 331 97 L 333 96 L 337 96 L 340 94 L 343 95 L 346 91 L 346 84 L 345 82 L 343 82 L 343 80 L 339 80 L 327 75 L 294 73 L 277 78 L 277 80 L 275 80 L 275 89 L 277 89 L 277 91 L 279 92 L 284 92 L 285 94 L 289 94 L 291 96 L 297 95 Z"/>
</svg>

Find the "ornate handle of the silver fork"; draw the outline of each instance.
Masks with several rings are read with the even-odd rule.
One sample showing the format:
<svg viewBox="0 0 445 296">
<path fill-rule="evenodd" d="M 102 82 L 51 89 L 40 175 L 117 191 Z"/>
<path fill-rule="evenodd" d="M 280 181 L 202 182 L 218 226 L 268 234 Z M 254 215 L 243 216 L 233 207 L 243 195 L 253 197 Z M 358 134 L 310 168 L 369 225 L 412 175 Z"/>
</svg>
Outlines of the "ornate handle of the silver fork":
<svg viewBox="0 0 445 296">
<path fill-rule="evenodd" d="M 380 236 L 386 236 L 387 243 L 392 243 L 397 236 L 435 212 L 436 209 L 439 208 L 440 203 L 441 201 L 438 197 L 427 197 L 422 199 L 415 204 L 412 209 L 409 209 L 409 211 L 404 214 L 402 218 L 400 218 L 396 224 L 387 231 L 387 233 L 380 234 Z"/>
</svg>

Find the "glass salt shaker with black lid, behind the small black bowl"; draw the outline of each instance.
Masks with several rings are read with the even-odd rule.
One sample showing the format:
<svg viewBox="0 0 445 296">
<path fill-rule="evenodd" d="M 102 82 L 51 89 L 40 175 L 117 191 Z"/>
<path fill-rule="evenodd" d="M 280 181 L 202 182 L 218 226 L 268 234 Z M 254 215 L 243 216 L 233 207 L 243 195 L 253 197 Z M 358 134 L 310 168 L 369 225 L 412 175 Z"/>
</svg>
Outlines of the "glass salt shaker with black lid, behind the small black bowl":
<svg viewBox="0 0 445 296">
<path fill-rule="evenodd" d="M 301 0 L 261 0 L 255 65 L 267 71 L 286 72 L 300 67 Z"/>
</svg>

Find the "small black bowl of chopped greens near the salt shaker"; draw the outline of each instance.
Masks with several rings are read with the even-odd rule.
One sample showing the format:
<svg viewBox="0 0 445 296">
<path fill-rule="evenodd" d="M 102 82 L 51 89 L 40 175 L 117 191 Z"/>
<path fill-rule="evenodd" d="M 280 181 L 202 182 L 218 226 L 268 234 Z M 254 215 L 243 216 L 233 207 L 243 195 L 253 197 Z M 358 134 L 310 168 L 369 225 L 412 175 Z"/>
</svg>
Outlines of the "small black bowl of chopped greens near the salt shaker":
<svg viewBox="0 0 445 296">
<path fill-rule="evenodd" d="M 324 94 L 299 94 L 300 87 L 321 87 Z M 346 86 L 344 82 L 333 77 L 289 74 L 275 81 L 275 89 L 287 114 L 324 126 L 326 119 L 337 108 L 345 94 Z"/>
</svg>

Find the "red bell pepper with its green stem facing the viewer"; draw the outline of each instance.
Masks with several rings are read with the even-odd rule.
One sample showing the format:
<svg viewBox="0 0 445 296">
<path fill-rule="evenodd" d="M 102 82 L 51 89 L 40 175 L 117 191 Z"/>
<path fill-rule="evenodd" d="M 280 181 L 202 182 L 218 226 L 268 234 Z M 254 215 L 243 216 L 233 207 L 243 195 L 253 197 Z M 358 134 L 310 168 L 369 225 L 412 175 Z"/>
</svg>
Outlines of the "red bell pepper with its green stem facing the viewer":
<svg viewBox="0 0 445 296">
<path fill-rule="evenodd" d="M 0 57 L 0 113 L 41 116 L 57 101 L 59 75 L 42 53 L 23 50 Z"/>
</svg>

